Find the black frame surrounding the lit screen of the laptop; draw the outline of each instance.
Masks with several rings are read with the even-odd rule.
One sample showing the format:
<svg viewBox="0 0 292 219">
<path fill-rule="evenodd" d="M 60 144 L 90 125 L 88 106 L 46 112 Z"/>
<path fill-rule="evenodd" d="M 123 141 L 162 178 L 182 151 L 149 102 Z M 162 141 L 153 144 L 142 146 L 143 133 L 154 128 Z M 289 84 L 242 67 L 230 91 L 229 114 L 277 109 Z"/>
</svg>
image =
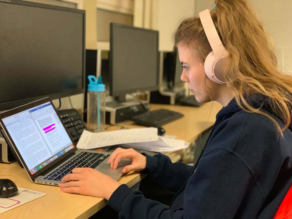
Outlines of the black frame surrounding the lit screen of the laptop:
<svg viewBox="0 0 292 219">
<path fill-rule="evenodd" d="M 62 159 L 64 159 L 65 157 L 67 156 L 70 156 L 72 153 L 74 153 L 75 151 L 77 151 L 77 147 L 76 145 L 74 144 L 74 141 L 73 139 L 70 137 L 69 133 L 68 133 L 68 130 L 65 128 L 70 140 L 72 141 L 72 144 L 74 145 L 74 148 L 72 150 L 69 150 L 67 151 L 65 154 L 63 154 L 62 156 L 56 158 L 55 160 L 51 161 L 47 166 L 41 168 L 39 171 L 37 171 L 36 173 L 34 174 L 31 174 L 30 173 L 30 169 L 27 167 L 27 165 L 25 164 L 25 161 L 24 159 L 22 158 L 18 148 L 16 147 L 13 139 L 11 138 L 11 135 L 9 134 L 6 126 L 4 125 L 4 122 L 2 121 L 2 119 L 6 118 L 6 117 L 9 117 L 9 116 L 12 116 L 14 114 L 17 114 L 17 113 L 20 113 L 20 112 L 23 112 L 27 109 L 30 109 L 30 108 L 33 108 L 33 107 L 37 107 L 41 104 L 44 104 L 46 102 L 50 102 L 51 105 L 53 106 L 53 109 L 55 110 L 55 112 L 57 113 L 57 110 L 52 102 L 52 100 L 49 98 L 49 97 L 46 97 L 46 98 L 43 98 L 43 99 L 40 99 L 40 100 L 36 100 L 34 102 L 30 102 L 28 104 L 25 104 L 25 105 L 22 105 L 20 107 L 16 107 L 14 109 L 10 109 L 8 111 L 5 111 L 5 112 L 2 112 L 0 113 L 0 125 L 1 125 L 1 132 L 3 132 L 2 134 L 3 135 L 6 135 L 7 139 L 9 140 L 9 143 L 8 144 L 11 148 L 11 150 L 13 150 L 16 155 L 18 156 L 18 159 L 20 160 L 22 166 L 26 169 L 26 172 L 27 174 L 29 175 L 29 177 L 31 178 L 32 181 L 34 181 L 34 179 L 36 177 L 38 177 L 39 175 L 41 175 L 42 173 L 44 173 L 46 170 L 48 170 L 49 168 L 51 168 L 54 164 L 57 164 L 59 161 L 61 161 Z M 57 113 L 58 115 L 58 113 Z M 58 118 L 61 120 L 60 116 L 58 115 Z"/>
</svg>

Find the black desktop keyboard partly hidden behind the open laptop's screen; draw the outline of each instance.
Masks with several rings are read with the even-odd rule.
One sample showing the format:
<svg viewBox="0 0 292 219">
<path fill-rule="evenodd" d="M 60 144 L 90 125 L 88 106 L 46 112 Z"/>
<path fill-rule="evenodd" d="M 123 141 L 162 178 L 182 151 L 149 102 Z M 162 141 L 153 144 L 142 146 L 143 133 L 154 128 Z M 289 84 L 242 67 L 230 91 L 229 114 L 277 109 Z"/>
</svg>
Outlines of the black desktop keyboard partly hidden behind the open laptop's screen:
<svg viewBox="0 0 292 219">
<path fill-rule="evenodd" d="M 84 121 L 76 109 L 58 110 L 58 115 L 76 145 L 83 130 L 87 130 Z"/>
</svg>

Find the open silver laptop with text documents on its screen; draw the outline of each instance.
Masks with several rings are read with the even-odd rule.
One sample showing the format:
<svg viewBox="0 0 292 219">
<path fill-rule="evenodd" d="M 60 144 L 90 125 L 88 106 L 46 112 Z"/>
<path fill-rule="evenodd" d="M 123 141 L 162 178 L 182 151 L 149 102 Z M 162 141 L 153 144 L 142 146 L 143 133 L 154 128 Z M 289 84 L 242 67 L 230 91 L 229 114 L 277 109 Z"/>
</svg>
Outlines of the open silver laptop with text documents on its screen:
<svg viewBox="0 0 292 219">
<path fill-rule="evenodd" d="M 0 124 L 16 159 L 35 183 L 58 186 L 75 167 L 91 167 L 117 180 L 131 164 L 123 159 L 113 169 L 107 163 L 110 153 L 78 150 L 50 98 L 1 113 Z"/>
</svg>

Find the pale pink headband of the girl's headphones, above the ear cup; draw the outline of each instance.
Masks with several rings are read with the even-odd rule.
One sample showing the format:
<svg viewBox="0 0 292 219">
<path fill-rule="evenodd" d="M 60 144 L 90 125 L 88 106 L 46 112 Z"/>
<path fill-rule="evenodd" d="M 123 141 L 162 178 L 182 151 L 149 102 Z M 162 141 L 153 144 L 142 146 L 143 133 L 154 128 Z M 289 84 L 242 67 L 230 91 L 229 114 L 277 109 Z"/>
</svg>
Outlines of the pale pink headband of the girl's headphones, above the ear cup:
<svg viewBox="0 0 292 219">
<path fill-rule="evenodd" d="M 213 23 L 210 9 L 206 9 L 205 11 L 200 12 L 199 17 L 200 17 L 201 23 L 203 25 L 205 34 L 206 34 L 208 41 L 211 45 L 211 48 L 212 48 L 214 54 L 217 55 L 217 53 L 219 51 L 222 51 L 222 47 L 224 49 L 224 46 L 220 40 L 220 37 L 219 37 L 217 30 L 215 28 L 215 25 Z"/>
</svg>

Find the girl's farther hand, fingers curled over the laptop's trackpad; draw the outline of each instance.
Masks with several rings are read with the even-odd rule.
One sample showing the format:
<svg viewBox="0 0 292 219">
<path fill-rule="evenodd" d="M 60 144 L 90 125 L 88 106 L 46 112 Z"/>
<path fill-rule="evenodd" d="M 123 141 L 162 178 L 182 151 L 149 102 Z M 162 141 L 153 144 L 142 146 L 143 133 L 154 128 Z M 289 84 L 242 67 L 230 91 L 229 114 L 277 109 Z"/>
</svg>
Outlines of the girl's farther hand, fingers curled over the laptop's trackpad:
<svg viewBox="0 0 292 219">
<path fill-rule="evenodd" d="M 125 166 L 123 168 L 123 173 L 128 173 L 130 171 L 142 171 L 146 168 L 146 157 L 139 152 L 135 151 L 133 148 L 122 149 L 117 148 L 109 157 L 108 162 L 111 168 L 116 169 L 119 162 L 123 158 L 128 158 L 132 161 L 131 165 Z"/>
</svg>

